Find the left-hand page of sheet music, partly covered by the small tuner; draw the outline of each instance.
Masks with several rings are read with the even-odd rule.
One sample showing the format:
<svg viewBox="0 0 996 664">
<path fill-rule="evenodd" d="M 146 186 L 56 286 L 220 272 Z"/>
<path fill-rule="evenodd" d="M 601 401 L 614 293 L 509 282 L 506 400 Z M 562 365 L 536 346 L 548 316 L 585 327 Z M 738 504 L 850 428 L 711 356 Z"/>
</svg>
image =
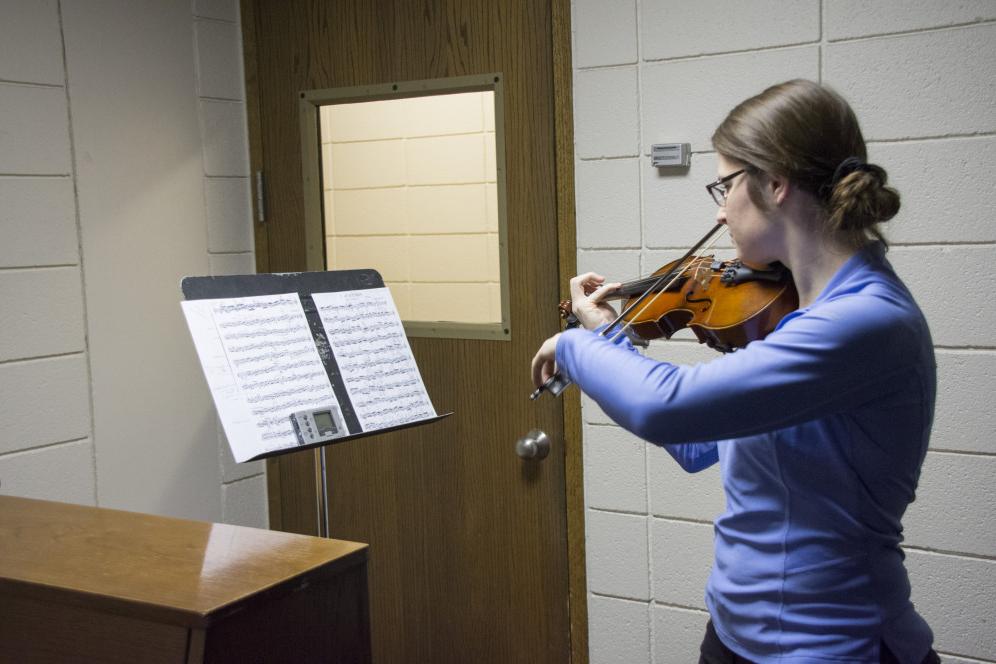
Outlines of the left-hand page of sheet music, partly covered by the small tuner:
<svg viewBox="0 0 996 664">
<path fill-rule="evenodd" d="M 296 293 L 181 304 L 236 461 L 296 446 L 291 413 L 339 405 Z"/>
</svg>

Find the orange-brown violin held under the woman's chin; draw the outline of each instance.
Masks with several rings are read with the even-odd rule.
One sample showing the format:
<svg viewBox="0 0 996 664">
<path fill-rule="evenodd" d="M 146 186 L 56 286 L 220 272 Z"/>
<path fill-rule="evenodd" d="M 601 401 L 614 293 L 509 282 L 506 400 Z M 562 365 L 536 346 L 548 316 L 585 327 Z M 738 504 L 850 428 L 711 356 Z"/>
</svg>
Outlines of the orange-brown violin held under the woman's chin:
<svg viewBox="0 0 996 664">
<path fill-rule="evenodd" d="M 626 334 L 634 344 L 646 346 L 654 339 L 670 339 L 687 327 L 699 343 L 729 353 L 763 339 L 786 314 L 798 309 L 799 295 L 785 266 L 775 263 L 755 268 L 740 260 L 696 255 L 710 238 L 710 245 L 715 243 L 721 228 L 725 229 L 716 224 L 678 260 L 608 295 L 605 299 L 624 299 L 626 304 L 601 336 Z M 559 308 L 568 328 L 579 324 L 569 300 Z M 569 381 L 555 374 L 530 398 L 544 391 L 558 396 L 568 385 Z"/>
</svg>

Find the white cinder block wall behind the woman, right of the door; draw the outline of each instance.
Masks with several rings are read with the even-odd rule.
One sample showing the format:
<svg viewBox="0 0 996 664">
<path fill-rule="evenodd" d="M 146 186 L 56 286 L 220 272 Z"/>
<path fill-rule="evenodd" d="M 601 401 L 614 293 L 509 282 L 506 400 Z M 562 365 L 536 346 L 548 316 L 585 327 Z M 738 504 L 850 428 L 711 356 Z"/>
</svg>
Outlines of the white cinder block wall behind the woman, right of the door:
<svg viewBox="0 0 996 664">
<path fill-rule="evenodd" d="M 647 274 L 712 224 L 709 137 L 739 101 L 805 77 L 857 111 L 903 196 L 890 260 L 937 347 L 931 450 L 905 518 L 913 600 L 948 662 L 996 662 L 996 3 L 574 0 L 579 270 Z M 687 172 L 650 166 L 690 142 Z M 689 336 L 660 359 L 709 358 Z M 686 475 L 584 403 L 592 664 L 697 661 L 716 469 Z"/>
</svg>

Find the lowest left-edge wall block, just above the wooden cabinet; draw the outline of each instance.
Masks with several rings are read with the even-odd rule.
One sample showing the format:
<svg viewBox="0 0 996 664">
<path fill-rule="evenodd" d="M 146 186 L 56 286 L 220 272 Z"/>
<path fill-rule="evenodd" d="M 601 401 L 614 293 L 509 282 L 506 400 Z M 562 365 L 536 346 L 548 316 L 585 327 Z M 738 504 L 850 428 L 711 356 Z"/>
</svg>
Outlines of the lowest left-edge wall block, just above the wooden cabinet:
<svg viewBox="0 0 996 664">
<path fill-rule="evenodd" d="M 94 505 L 93 442 L 81 440 L 0 456 L 0 493 Z"/>
</svg>

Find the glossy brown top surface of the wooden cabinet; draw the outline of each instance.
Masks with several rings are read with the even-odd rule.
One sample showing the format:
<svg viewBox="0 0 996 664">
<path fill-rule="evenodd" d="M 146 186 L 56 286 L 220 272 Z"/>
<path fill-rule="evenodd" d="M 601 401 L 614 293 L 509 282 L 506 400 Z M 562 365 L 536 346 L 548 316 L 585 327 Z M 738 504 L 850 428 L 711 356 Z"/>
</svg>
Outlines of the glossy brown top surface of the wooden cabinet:
<svg viewBox="0 0 996 664">
<path fill-rule="evenodd" d="M 0 496 L 0 589 L 207 616 L 365 559 L 354 542 Z"/>
</svg>

